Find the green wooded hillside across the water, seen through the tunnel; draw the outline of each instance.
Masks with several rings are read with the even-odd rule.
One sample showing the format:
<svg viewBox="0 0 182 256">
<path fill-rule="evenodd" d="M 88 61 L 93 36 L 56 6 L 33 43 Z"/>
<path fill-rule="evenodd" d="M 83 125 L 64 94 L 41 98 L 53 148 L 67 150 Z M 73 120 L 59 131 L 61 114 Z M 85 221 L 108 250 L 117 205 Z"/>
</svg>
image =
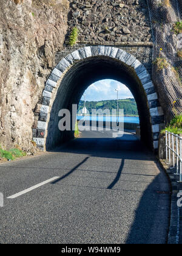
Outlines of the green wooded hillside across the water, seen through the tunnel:
<svg viewBox="0 0 182 256">
<path fill-rule="evenodd" d="M 84 101 L 80 101 L 78 105 L 78 110 L 82 110 L 84 107 Z M 109 109 L 110 112 L 112 109 L 117 108 L 116 100 L 108 101 L 86 101 L 86 108 L 89 110 L 89 113 L 92 113 L 92 109 Z M 136 106 L 135 99 L 120 99 L 119 108 L 124 109 L 124 115 L 128 116 L 138 116 L 138 110 Z"/>
</svg>

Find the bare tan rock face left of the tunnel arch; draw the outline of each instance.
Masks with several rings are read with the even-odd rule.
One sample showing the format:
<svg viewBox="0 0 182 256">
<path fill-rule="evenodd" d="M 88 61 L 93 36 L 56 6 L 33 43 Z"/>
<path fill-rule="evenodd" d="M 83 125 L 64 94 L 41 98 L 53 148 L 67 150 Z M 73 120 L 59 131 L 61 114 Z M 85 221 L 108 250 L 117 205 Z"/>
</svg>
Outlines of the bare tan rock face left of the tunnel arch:
<svg viewBox="0 0 182 256">
<path fill-rule="evenodd" d="M 33 110 L 62 49 L 67 0 L 1 0 L 0 141 L 31 147 Z"/>
</svg>

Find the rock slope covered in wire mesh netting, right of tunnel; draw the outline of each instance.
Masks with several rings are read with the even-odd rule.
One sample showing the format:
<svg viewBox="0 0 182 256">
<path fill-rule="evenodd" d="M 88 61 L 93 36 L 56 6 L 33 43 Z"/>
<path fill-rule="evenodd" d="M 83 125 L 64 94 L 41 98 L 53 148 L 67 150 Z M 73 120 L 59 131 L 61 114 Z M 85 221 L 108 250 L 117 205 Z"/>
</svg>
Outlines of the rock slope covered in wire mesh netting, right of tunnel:
<svg viewBox="0 0 182 256">
<path fill-rule="evenodd" d="M 182 113 L 182 0 L 147 0 L 153 34 L 152 79 L 166 121 Z"/>
</svg>

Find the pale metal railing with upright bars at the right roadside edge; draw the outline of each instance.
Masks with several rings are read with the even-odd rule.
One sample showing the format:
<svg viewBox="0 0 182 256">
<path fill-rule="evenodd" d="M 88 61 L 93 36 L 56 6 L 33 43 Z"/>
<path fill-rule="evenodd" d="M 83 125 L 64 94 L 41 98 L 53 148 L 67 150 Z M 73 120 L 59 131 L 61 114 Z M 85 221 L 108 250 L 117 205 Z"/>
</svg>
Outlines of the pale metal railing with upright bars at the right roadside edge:
<svg viewBox="0 0 182 256">
<path fill-rule="evenodd" d="M 166 160 L 169 160 L 168 165 L 171 163 L 171 157 L 172 168 L 177 169 L 175 175 L 179 175 L 179 182 L 182 182 L 182 137 L 166 130 Z"/>
</svg>

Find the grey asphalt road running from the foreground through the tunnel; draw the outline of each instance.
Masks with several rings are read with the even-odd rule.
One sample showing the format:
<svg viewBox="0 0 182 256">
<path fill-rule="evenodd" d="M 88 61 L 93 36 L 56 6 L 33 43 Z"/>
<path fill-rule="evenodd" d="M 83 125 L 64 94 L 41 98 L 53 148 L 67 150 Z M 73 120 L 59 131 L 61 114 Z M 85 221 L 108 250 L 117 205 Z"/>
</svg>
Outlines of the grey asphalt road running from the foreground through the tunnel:
<svg viewBox="0 0 182 256">
<path fill-rule="evenodd" d="M 155 157 L 129 133 L 89 134 L 0 165 L 0 243 L 166 243 L 169 184 Z"/>
</svg>

